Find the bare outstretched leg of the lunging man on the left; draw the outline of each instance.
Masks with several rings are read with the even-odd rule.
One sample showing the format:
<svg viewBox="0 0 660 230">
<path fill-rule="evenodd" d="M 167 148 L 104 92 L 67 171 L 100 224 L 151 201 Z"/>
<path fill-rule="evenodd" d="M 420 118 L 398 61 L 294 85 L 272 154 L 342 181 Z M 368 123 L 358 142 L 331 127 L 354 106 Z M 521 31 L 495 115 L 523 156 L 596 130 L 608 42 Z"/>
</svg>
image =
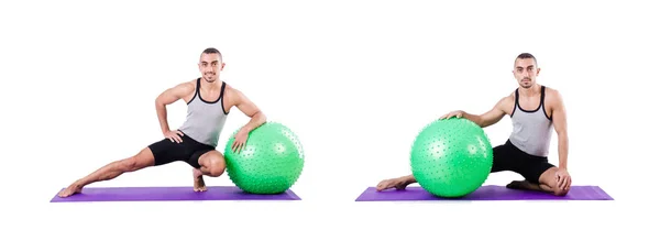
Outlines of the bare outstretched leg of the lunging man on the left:
<svg viewBox="0 0 660 230">
<path fill-rule="evenodd" d="M 139 171 L 148 166 L 154 165 L 154 155 L 148 147 L 143 149 L 140 153 L 134 156 L 116 161 L 106 166 L 95 171 L 86 177 L 76 180 L 64 190 L 59 191 L 59 197 L 68 197 L 70 195 L 80 193 L 82 187 L 102 180 L 109 180 L 118 177 L 121 174 Z"/>
</svg>

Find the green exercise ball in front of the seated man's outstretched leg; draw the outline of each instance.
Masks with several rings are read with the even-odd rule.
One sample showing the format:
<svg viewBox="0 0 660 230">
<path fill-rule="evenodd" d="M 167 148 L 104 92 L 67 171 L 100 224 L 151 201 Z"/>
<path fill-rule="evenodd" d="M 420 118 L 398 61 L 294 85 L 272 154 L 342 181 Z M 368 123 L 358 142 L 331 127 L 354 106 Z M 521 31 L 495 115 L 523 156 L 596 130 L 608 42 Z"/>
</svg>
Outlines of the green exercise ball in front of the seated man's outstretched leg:
<svg viewBox="0 0 660 230">
<path fill-rule="evenodd" d="M 493 167 L 493 147 L 484 130 L 468 119 L 436 120 L 415 139 L 410 166 L 425 190 L 458 198 L 486 180 Z"/>
</svg>

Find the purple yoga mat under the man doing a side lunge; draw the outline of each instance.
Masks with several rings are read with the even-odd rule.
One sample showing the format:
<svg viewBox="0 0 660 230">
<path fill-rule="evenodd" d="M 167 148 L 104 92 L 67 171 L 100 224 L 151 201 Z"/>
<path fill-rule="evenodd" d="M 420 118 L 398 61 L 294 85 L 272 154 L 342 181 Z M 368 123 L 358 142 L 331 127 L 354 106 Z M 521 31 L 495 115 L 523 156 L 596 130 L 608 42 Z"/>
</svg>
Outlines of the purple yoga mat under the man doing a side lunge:
<svg viewBox="0 0 660 230">
<path fill-rule="evenodd" d="M 59 191 L 57 191 L 59 193 Z M 86 187 L 82 193 L 62 198 L 55 194 L 51 202 L 76 201 L 183 201 L 183 200 L 300 200 L 294 191 L 256 195 L 235 186 L 207 186 L 206 191 L 185 187 Z"/>
</svg>

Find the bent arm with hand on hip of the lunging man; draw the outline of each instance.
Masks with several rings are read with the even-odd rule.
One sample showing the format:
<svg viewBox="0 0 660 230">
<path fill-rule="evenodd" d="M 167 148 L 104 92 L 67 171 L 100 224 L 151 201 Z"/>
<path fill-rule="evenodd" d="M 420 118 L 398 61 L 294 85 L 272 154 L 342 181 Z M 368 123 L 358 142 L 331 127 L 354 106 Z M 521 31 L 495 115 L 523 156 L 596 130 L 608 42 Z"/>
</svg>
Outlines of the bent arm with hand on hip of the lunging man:
<svg viewBox="0 0 660 230">
<path fill-rule="evenodd" d="M 161 131 L 163 134 L 169 132 L 169 124 L 167 123 L 167 109 L 166 106 L 176 102 L 184 98 L 186 95 L 191 94 L 195 90 L 195 86 L 189 83 L 179 84 L 175 87 L 168 88 L 156 97 L 156 113 L 158 114 L 158 122 L 161 123 Z"/>
</svg>

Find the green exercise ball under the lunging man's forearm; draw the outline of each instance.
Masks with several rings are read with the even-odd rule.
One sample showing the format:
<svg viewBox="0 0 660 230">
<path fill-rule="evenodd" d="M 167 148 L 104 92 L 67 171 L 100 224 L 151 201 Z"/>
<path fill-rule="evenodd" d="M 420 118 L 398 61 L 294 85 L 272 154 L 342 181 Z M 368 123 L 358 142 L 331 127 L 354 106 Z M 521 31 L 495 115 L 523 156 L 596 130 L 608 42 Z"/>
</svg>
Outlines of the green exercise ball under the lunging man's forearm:
<svg viewBox="0 0 660 230">
<path fill-rule="evenodd" d="M 252 130 L 243 149 L 234 153 L 231 146 L 237 132 L 224 146 L 227 174 L 237 187 L 251 194 L 280 194 L 298 180 L 305 154 L 292 130 L 266 122 Z"/>
</svg>

